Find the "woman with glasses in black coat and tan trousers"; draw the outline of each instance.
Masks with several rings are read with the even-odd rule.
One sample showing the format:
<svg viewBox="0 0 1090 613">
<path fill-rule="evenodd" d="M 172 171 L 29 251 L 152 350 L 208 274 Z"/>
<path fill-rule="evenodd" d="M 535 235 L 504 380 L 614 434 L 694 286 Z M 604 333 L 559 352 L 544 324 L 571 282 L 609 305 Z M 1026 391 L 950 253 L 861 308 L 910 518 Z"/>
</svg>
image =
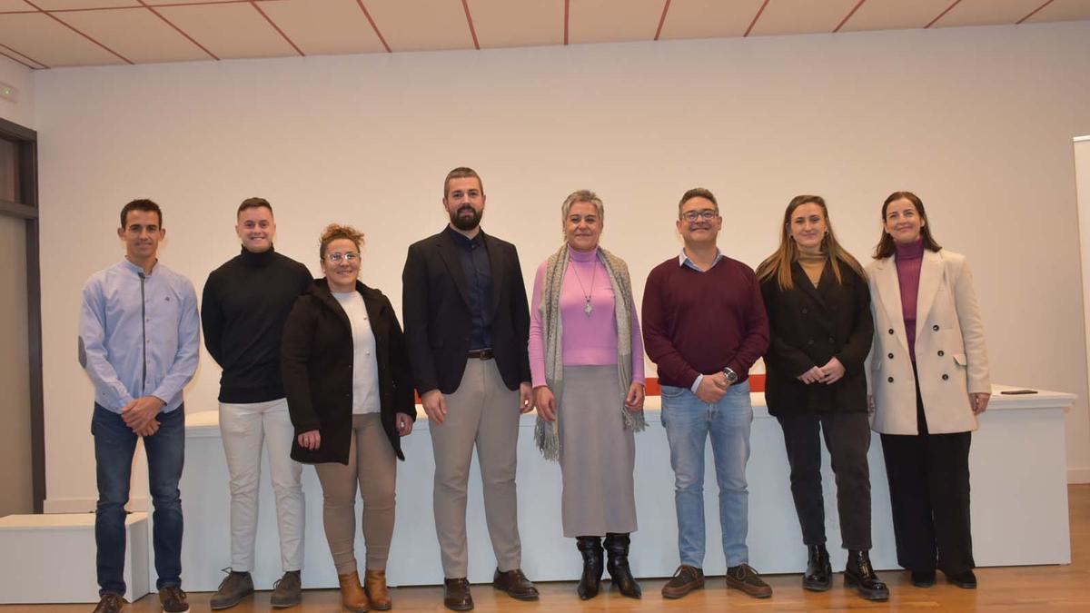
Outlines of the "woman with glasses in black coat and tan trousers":
<svg viewBox="0 0 1090 613">
<path fill-rule="evenodd" d="M 349 611 L 390 609 L 386 560 L 393 536 L 400 437 L 415 420 L 409 361 L 390 301 L 359 280 L 363 235 L 328 226 L 318 255 L 325 277 L 295 302 L 284 325 L 281 368 L 295 441 L 291 457 L 313 464 L 324 494 L 329 553 Z M 355 541 L 363 496 L 364 586 Z"/>
</svg>

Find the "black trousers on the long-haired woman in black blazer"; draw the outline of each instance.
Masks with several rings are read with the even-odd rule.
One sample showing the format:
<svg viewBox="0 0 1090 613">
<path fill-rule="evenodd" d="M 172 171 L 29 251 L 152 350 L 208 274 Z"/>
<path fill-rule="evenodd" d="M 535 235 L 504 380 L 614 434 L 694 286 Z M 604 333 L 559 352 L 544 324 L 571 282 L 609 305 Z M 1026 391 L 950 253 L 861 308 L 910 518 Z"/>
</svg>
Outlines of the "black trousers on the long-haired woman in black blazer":
<svg viewBox="0 0 1090 613">
<path fill-rule="evenodd" d="M 821 435 L 836 476 L 840 540 L 847 550 L 871 549 L 871 473 L 867 450 L 871 429 L 867 413 L 802 413 L 777 418 L 784 429 L 791 467 L 791 496 L 799 514 L 802 542 L 825 543 L 825 501 L 821 484 Z"/>
</svg>

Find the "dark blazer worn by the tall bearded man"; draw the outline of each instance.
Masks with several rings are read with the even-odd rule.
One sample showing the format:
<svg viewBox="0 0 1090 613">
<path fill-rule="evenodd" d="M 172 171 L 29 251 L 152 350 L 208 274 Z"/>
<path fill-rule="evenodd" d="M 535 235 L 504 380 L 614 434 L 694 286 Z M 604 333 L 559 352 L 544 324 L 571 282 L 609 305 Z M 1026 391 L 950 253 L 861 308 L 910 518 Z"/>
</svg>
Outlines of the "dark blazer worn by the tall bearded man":
<svg viewBox="0 0 1090 613">
<path fill-rule="evenodd" d="M 508 389 L 530 381 L 530 308 L 514 245 L 481 232 L 492 266 L 492 345 Z M 409 247 L 401 311 L 413 380 L 420 394 L 453 393 L 465 372 L 472 327 L 459 247 L 439 232 Z"/>
</svg>

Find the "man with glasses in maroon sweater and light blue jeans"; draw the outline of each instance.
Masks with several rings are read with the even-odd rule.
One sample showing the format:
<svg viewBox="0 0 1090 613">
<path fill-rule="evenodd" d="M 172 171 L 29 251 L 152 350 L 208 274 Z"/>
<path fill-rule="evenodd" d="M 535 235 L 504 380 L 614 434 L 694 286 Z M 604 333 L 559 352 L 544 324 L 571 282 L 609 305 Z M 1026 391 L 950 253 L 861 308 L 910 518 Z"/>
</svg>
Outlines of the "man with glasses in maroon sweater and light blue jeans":
<svg viewBox="0 0 1090 613">
<path fill-rule="evenodd" d="M 768 348 L 768 317 L 753 271 L 723 255 L 723 227 L 712 192 L 681 196 L 681 254 L 655 266 L 643 290 L 643 342 L 658 365 L 663 425 L 670 445 L 681 565 L 665 598 L 704 586 L 704 445 L 712 440 L 727 586 L 755 598 L 772 588 L 749 564 L 750 366 Z"/>
</svg>

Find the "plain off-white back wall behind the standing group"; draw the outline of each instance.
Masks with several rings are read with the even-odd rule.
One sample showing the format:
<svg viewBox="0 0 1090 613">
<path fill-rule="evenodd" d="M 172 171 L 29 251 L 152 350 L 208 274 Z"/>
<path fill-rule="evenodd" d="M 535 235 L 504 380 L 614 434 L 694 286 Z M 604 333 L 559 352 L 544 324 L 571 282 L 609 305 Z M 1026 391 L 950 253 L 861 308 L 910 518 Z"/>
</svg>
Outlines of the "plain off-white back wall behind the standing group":
<svg viewBox="0 0 1090 613">
<path fill-rule="evenodd" d="M 322 227 L 358 225 L 363 278 L 400 306 L 405 248 L 443 227 L 459 165 L 483 175 L 484 226 L 519 245 L 529 280 L 559 244 L 565 195 L 597 190 L 604 244 L 640 295 L 679 249 L 693 185 L 719 196 L 720 244 L 751 265 L 795 194 L 826 196 L 865 259 L 882 200 L 916 191 L 973 264 L 993 381 L 1080 396 L 1067 447 L 1083 470 L 1071 137 L 1090 132 L 1087 58 L 1080 22 L 40 71 L 49 497 L 94 497 L 76 315 L 84 279 L 121 257 L 124 202 L 164 206 L 162 261 L 198 292 L 238 250 L 244 197 L 272 202 L 278 248 L 315 271 Z M 216 408 L 218 374 L 204 356 L 190 411 Z"/>
</svg>

